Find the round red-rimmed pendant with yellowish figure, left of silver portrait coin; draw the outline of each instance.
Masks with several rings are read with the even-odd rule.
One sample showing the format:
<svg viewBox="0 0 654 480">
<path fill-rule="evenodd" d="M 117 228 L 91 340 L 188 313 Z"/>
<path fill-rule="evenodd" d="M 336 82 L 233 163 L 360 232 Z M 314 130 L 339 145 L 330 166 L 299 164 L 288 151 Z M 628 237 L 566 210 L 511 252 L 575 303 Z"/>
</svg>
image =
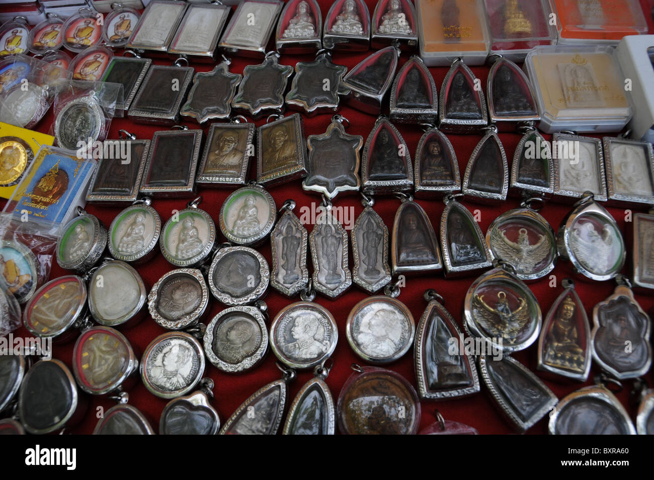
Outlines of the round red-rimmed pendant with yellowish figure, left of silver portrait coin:
<svg viewBox="0 0 654 480">
<path fill-rule="evenodd" d="M 85 330 L 75 343 L 73 373 L 84 392 L 103 395 L 120 388 L 139 361 L 128 339 L 110 327 Z"/>
</svg>

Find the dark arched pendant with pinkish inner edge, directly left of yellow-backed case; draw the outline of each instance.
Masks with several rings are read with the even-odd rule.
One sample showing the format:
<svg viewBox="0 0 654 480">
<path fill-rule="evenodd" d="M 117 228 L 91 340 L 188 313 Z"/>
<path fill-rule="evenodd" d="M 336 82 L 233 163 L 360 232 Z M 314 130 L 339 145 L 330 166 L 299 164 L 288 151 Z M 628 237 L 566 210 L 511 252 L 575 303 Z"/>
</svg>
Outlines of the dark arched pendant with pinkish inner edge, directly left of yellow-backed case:
<svg viewBox="0 0 654 480">
<path fill-rule="evenodd" d="M 490 122 L 540 120 L 529 79 L 508 58 L 500 58 L 490 67 L 486 93 Z"/>
</svg>

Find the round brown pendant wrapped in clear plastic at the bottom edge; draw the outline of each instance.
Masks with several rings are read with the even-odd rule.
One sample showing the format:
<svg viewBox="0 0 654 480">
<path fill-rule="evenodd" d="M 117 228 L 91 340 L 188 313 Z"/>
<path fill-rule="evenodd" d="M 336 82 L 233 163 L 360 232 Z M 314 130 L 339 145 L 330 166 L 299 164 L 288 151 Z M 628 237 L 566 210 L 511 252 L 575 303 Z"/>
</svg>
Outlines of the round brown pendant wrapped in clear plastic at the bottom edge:
<svg viewBox="0 0 654 480">
<path fill-rule="evenodd" d="M 402 375 L 353 365 L 336 407 L 339 430 L 347 435 L 415 435 L 420 402 Z"/>
</svg>

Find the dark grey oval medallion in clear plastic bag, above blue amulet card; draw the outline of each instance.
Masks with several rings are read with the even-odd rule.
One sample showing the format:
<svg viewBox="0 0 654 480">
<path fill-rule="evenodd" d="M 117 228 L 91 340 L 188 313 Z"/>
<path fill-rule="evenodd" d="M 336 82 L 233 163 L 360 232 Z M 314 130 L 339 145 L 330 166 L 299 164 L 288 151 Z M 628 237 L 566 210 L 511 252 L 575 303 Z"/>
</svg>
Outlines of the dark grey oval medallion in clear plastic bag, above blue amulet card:
<svg viewBox="0 0 654 480">
<path fill-rule="evenodd" d="M 96 141 L 105 135 L 105 113 L 92 96 L 66 103 L 54 123 L 57 145 L 67 150 L 77 151 L 79 141 Z"/>
</svg>

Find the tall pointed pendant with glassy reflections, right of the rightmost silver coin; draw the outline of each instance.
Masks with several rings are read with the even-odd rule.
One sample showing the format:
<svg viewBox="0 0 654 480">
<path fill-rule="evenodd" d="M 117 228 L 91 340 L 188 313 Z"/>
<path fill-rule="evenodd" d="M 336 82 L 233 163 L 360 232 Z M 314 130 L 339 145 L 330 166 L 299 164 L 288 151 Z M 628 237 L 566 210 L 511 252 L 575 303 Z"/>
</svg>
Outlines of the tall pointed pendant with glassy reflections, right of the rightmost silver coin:
<svg viewBox="0 0 654 480">
<path fill-rule="evenodd" d="M 466 354 L 463 333 L 434 290 L 418 323 L 413 359 L 418 393 L 423 400 L 445 400 L 479 392 L 475 363 Z M 454 339 L 454 341 L 453 341 Z M 456 345 L 455 352 L 451 346 Z"/>
</svg>

